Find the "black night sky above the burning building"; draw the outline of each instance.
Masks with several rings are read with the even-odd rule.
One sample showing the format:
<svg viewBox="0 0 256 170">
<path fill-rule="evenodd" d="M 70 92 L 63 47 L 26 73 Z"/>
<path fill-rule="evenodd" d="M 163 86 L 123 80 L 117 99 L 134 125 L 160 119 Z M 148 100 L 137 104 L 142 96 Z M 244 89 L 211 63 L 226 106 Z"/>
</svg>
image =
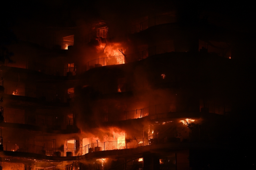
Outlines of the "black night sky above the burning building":
<svg viewBox="0 0 256 170">
<path fill-rule="evenodd" d="M 108 19 L 118 15 L 140 16 L 158 10 L 190 8 L 209 15 L 217 13 L 215 19 L 225 27 L 242 32 L 254 33 L 254 7 L 249 2 L 225 1 L 70 1 L 70 0 L 37 0 L 6 1 L 1 4 L 1 20 L 8 22 L 40 22 L 46 26 L 76 26 L 78 20 L 90 21 L 95 18 Z M 2 22 L 3 23 L 3 22 Z"/>
</svg>

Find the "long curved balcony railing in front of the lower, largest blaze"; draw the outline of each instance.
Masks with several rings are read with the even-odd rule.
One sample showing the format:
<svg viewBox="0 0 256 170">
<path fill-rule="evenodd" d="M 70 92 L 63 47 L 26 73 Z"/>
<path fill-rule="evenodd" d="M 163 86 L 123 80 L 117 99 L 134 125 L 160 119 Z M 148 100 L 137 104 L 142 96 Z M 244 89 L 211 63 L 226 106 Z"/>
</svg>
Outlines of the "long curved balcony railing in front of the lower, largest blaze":
<svg viewBox="0 0 256 170">
<path fill-rule="evenodd" d="M 98 152 L 104 150 L 120 150 L 138 148 L 158 143 L 173 143 L 173 142 L 189 142 L 194 136 L 190 133 L 170 133 L 170 134 L 156 134 L 149 136 L 149 140 L 146 142 L 144 138 L 121 140 L 121 141 L 109 141 L 98 142 L 88 144 L 78 148 L 46 148 L 43 146 L 36 146 L 31 144 L 10 143 L 4 142 L 4 150 L 12 152 L 27 152 L 42 154 L 48 156 L 81 156 L 90 152 Z"/>
</svg>

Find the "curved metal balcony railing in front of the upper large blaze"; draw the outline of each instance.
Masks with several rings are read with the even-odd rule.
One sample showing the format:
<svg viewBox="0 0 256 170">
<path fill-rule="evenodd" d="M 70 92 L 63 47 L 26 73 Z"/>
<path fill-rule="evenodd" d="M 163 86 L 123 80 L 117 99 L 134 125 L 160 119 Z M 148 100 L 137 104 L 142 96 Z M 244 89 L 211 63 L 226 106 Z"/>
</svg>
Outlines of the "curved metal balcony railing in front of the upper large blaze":
<svg viewBox="0 0 256 170">
<path fill-rule="evenodd" d="M 100 67 L 100 66 L 109 66 L 109 65 L 117 65 L 117 64 L 125 64 L 128 62 L 134 62 L 138 60 L 142 60 L 148 58 L 149 56 L 154 56 L 156 54 L 163 54 L 166 52 L 174 52 L 173 44 L 165 44 L 161 46 L 153 46 L 142 52 L 128 54 L 126 56 L 111 56 L 98 58 L 95 60 L 91 60 L 87 62 L 83 72 L 90 70 L 92 68 Z"/>
</svg>

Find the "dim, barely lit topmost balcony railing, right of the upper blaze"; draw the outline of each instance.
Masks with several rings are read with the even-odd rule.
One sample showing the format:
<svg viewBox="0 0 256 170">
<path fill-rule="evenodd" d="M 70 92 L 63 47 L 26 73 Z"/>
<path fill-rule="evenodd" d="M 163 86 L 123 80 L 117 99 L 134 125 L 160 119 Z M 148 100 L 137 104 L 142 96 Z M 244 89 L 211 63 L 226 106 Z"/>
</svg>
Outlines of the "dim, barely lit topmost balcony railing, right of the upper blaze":
<svg viewBox="0 0 256 170">
<path fill-rule="evenodd" d="M 135 24 L 131 26 L 130 32 L 132 34 L 136 32 L 141 32 L 143 30 L 148 29 L 149 27 L 160 25 L 160 24 L 168 24 L 168 23 L 174 23 L 176 22 L 176 14 L 166 14 L 166 15 L 160 15 L 155 16 L 152 18 L 149 18 L 148 20 L 144 22 L 140 22 L 139 24 Z"/>
</svg>

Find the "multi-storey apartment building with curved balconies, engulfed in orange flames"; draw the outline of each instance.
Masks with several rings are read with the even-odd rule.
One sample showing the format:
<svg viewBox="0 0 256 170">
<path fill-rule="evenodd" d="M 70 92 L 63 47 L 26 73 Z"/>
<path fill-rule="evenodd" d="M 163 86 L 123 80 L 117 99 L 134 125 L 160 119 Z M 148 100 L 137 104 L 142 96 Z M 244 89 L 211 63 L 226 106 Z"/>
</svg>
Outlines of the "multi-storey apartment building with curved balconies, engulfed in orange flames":
<svg viewBox="0 0 256 170">
<path fill-rule="evenodd" d="M 239 38 L 188 7 L 115 17 L 1 42 L 3 170 L 236 167 Z"/>
</svg>

